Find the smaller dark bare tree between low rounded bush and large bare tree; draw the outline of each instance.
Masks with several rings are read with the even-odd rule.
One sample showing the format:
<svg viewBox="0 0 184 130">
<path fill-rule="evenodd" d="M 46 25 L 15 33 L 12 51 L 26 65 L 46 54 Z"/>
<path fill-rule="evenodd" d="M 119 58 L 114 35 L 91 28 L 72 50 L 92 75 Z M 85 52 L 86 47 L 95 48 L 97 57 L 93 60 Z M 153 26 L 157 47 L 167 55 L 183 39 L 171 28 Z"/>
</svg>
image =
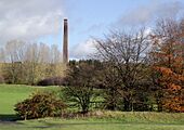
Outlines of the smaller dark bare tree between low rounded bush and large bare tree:
<svg viewBox="0 0 184 130">
<path fill-rule="evenodd" d="M 67 70 L 64 98 L 81 108 L 83 114 L 89 112 L 90 103 L 95 98 L 97 68 L 93 61 L 73 62 Z"/>
</svg>

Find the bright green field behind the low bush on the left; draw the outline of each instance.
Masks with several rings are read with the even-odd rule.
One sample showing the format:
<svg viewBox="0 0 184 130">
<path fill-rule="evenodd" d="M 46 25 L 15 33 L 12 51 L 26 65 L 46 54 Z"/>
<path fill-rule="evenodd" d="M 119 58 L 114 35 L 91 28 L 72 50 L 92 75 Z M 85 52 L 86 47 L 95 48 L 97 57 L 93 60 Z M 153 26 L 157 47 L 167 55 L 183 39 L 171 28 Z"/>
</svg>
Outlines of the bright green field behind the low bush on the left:
<svg viewBox="0 0 184 130">
<path fill-rule="evenodd" d="M 0 115 L 15 114 L 14 105 L 29 98 L 32 92 L 54 90 L 54 87 L 31 87 L 24 84 L 0 84 Z"/>
</svg>

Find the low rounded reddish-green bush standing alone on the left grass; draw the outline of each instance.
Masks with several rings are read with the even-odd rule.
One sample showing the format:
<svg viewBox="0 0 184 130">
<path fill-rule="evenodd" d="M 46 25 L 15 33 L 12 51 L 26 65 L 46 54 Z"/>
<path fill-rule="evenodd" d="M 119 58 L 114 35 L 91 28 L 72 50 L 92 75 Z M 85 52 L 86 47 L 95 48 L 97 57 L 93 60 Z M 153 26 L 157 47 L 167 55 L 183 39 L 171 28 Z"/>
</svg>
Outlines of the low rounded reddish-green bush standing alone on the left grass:
<svg viewBox="0 0 184 130">
<path fill-rule="evenodd" d="M 62 114 L 66 105 L 53 93 L 36 93 L 30 99 L 15 104 L 14 110 L 21 118 L 34 119 Z"/>
</svg>

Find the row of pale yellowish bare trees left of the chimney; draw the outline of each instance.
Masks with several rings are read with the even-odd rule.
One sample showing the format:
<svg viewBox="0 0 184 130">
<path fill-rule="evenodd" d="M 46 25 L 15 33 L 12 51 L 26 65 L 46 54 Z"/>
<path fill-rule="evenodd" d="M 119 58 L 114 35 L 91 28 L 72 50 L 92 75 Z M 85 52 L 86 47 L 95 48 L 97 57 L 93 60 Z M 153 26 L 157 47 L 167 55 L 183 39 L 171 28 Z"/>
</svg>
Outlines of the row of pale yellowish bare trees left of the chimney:
<svg viewBox="0 0 184 130">
<path fill-rule="evenodd" d="M 36 84 L 45 78 L 55 80 L 63 76 L 64 69 L 55 44 L 13 40 L 0 49 L 1 82 Z"/>
</svg>

